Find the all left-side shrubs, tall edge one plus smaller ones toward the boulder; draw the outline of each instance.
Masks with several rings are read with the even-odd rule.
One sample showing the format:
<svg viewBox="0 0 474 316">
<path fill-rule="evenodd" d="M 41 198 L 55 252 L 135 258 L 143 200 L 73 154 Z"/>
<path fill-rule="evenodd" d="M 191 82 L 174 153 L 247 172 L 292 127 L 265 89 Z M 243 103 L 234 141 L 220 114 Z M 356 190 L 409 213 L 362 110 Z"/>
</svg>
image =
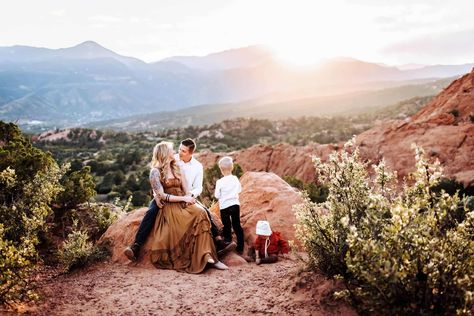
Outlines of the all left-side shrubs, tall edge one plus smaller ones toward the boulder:
<svg viewBox="0 0 474 316">
<path fill-rule="evenodd" d="M 15 124 L 0 121 L 0 304 L 35 298 L 31 274 L 42 264 L 43 255 L 51 254 L 49 247 L 55 246 L 51 234 L 65 231 L 62 224 L 73 220 L 75 208 L 95 195 L 89 167 L 76 164 L 75 170 L 68 168 L 67 164 L 60 167 L 50 153 L 33 147 Z M 83 213 L 90 214 L 89 226 L 97 227 L 97 234 L 119 214 L 96 209 L 95 204 L 83 207 Z M 61 252 L 84 250 L 82 261 L 74 259 L 68 268 L 103 254 L 94 247 L 92 253 L 87 252 L 83 242 L 86 226 L 76 227 L 78 232 L 73 232 Z M 42 251 L 46 244 L 47 251 Z"/>
</svg>

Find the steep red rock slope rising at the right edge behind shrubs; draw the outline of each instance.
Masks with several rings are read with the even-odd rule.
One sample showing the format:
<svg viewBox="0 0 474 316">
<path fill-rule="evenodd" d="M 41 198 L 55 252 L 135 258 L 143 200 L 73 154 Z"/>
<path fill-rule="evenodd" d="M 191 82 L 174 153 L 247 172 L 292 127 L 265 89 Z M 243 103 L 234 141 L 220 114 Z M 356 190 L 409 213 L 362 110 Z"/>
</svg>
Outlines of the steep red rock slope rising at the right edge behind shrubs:
<svg viewBox="0 0 474 316">
<path fill-rule="evenodd" d="M 426 107 L 405 121 L 392 121 L 357 136 L 362 157 L 382 157 L 400 178 L 414 170 L 411 144 L 436 157 L 447 177 L 474 185 L 474 70 L 455 80 Z"/>
</svg>

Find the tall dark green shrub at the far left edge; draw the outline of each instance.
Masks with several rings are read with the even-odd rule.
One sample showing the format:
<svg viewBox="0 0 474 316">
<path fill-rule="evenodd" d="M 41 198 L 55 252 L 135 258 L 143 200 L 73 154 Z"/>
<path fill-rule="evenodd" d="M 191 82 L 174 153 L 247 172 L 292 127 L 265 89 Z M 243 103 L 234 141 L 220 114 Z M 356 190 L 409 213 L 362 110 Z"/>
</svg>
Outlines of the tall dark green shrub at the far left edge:
<svg viewBox="0 0 474 316">
<path fill-rule="evenodd" d="M 64 172 L 15 124 L 0 121 L 0 304 L 32 295 L 28 276 L 37 260 L 38 235 L 46 231 Z"/>
</svg>

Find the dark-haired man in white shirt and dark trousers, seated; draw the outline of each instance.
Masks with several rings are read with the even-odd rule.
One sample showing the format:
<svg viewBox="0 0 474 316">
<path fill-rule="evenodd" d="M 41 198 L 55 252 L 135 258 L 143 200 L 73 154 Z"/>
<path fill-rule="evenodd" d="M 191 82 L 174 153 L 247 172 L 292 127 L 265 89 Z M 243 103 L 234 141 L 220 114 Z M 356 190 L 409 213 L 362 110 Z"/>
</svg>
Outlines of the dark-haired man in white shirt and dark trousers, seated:
<svg viewBox="0 0 474 316">
<path fill-rule="evenodd" d="M 204 178 L 204 169 L 202 164 L 193 157 L 193 153 L 196 149 L 196 143 L 194 140 L 188 138 L 181 142 L 179 145 L 178 154 L 175 155 L 175 159 L 178 165 L 183 169 L 186 182 L 190 187 L 190 194 L 192 197 L 197 198 L 202 192 L 202 181 Z M 140 247 L 145 244 L 148 235 L 150 234 L 153 226 L 155 225 L 155 219 L 158 215 L 158 211 L 163 207 L 161 201 L 153 199 L 150 203 L 148 211 L 145 213 L 140 226 L 138 227 L 137 234 L 135 235 L 135 242 L 133 245 L 125 248 L 124 254 L 132 261 L 138 259 L 140 254 Z M 158 203 L 158 204 L 157 204 Z M 211 221 L 211 234 L 214 238 L 216 250 L 218 255 L 222 255 L 228 251 L 235 249 L 236 244 L 234 242 L 228 243 L 218 239 L 218 229 L 212 221 L 209 210 L 206 212 Z"/>
</svg>

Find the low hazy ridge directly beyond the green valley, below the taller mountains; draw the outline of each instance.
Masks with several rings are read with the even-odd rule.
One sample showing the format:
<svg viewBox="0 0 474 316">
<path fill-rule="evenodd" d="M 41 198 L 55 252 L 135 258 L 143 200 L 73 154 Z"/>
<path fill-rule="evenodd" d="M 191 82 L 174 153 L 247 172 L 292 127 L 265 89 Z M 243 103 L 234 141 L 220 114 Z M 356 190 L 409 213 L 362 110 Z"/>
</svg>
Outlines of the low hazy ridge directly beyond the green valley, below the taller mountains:
<svg viewBox="0 0 474 316">
<path fill-rule="evenodd" d="M 128 131 L 160 130 L 214 124 L 238 117 L 284 119 L 301 116 L 357 115 L 377 111 L 413 97 L 435 95 L 452 81 L 451 78 L 426 83 L 391 87 L 377 91 L 357 91 L 336 96 L 320 96 L 284 102 L 251 100 L 240 103 L 213 104 L 178 111 L 149 113 L 129 118 L 94 122 L 87 126 Z"/>
</svg>

